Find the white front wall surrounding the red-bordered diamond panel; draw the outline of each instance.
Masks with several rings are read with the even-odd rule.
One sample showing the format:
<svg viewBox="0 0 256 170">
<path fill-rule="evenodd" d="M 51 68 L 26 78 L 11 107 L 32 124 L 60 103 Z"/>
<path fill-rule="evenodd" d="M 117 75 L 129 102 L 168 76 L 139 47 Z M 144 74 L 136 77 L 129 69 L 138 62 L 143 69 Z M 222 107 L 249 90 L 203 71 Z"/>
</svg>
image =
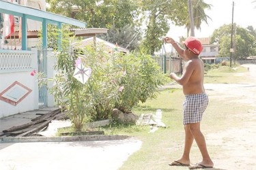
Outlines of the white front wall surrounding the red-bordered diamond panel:
<svg viewBox="0 0 256 170">
<path fill-rule="evenodd" d="M 17 53 L 17 51 L 14 51 L 14 53 Z M 22 51 L 20 55 L 23 55 L 24 53 L 25 52 Z M 0 93 L 10 87 L 16 81 L 32 90 L 29 95 L 27 95 L 27 97 L 25 97 L 25 99 L 20 101 L 20 103 L 17 105 L 12 105 L 8 102 L 0 100 L 0 118 L 21 112 L 27 112 L 33 109 L 38 109 L 38 81 L 36 76 L 30 75 L 33 69 L 37 70 L 38 68 L 38 53 L 36 49 L 32 49 L 32 52 L 29 53 L 31 53 L 31 67 L 28 69 L 14 69 L 0 72 Z M 0 51 L 0 55 L 1 54 L 3 53 Z M 10 51 L 8 54 L 12 55 L 12 51 Z M 3 55 L 1 57 L 3 57 Z"/>
</svg>

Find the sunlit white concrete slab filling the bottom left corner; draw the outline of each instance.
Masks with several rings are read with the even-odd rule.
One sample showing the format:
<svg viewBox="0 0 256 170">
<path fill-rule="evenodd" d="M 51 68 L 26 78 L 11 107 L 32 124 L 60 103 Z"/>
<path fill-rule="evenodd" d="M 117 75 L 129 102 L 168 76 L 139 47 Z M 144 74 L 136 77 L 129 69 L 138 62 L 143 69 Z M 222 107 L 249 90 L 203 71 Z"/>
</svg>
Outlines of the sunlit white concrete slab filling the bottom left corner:
<svg viewBox="0 0 256 170">
<path fill-rule="evenodd" d="M 6 143 L 0 143 L 1 145 Z M 104 169 L 122 167 L 141 148 L 137 139 L 15 143 L 0 150 L 0 169 Z"/>
</svg>

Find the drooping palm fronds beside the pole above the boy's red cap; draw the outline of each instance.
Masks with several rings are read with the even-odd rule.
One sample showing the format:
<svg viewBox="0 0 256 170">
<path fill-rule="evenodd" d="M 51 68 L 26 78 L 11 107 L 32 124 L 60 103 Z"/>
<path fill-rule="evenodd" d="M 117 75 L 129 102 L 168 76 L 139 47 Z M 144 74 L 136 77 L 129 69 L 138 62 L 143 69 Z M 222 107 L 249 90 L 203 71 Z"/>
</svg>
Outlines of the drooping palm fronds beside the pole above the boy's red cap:
<svg viewBox="0 0 256 170">
<path fill-rule="evenodd" d="M 193 0 L 192 1 L 193 4 L 193 18 L 194 18 L 194 25 L 197 29 L 201 29 L 201 23 L 205 22 L 206 24 L 208 24 L 207 20 L 208 18 L 210 18 L 210 16 L 206 15 L 204 10 L 205 9 L 211 9 L 212 5 L 205 3 L 203 0 Z M 186 29 L 187 29 L 187 36 L 189 35 L 189 31 L 190 31 L 190 19 L 189 16 L 187 18 L 187 22 L 186 22 Z"/>
</svg>

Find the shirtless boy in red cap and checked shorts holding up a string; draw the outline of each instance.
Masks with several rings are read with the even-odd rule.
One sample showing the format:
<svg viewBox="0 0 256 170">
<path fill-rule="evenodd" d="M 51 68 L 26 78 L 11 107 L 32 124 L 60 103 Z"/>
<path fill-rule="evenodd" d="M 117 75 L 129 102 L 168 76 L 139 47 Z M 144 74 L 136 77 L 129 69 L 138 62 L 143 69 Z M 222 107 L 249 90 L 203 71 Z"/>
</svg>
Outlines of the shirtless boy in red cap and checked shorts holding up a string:
<svg viewBox="0 0 256 170">
<path fill-rule="evenodd" d="M 184 41 L 186 49 L 180 48 L 171 37 L 165 37 L 165 42 L 175 48 L 178 54 L 186 61 L 184 72 L 181 77 L 175 73 L 169 76 L 178 84 L 183 86 L 183 92 L 186 97 L 183 103 L 183 124 L 185 129 L 185 146 L 182 158 L 170 163 L 170 166 L 188 166 L 189 169 L 201 169 L 205 167 L 213 167 L 208 150 L 206 148 L 205 138 L 200 131 L 200 122 L 208 105 L 208 96 L 205 94 L 203 87 L 203 61 L 199 58 L 199 54 L 203 50 L 203 46 L 199 39 L 188 37 Z M 201 152 L 203 160 L 190 167 L 190 149 L 193 141 L 197 142 L 197 146 Z"/>
</svg>

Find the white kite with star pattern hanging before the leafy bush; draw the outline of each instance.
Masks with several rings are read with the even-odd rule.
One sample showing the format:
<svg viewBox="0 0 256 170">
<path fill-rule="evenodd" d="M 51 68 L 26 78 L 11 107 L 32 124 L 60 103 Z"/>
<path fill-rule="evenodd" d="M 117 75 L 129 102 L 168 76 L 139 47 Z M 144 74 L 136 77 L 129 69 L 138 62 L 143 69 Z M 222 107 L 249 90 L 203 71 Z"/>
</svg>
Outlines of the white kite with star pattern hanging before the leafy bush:
<svg viewBox="0 0 256 170">
<path fill-rule="evenodd" d="M 86 68 L 81 62 L 76 63 L 76 69 L 74 70 L 74 78 L 79 82 L 85 84 L 91 75 L 91 68 Z"/>
</svg>

